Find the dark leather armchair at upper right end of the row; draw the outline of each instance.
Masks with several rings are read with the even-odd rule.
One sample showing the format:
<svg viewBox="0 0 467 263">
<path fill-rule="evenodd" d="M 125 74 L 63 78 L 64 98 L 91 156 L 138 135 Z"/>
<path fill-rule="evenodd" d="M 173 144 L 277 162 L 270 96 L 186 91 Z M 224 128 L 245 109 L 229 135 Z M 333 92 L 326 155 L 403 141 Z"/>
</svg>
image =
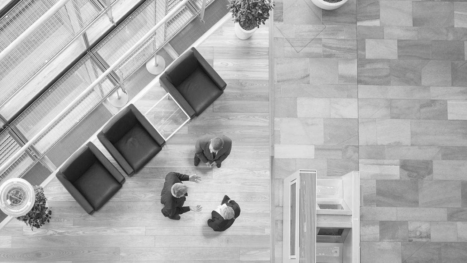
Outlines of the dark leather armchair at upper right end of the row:
<svg viewBox="0 0 467 263">
<path fill-rule="evenodd" d="M 226 88 L 226 82 L 195 48 L 178 57 L 159 82 L 190 118 L 199 116 Z"/>
</svg>

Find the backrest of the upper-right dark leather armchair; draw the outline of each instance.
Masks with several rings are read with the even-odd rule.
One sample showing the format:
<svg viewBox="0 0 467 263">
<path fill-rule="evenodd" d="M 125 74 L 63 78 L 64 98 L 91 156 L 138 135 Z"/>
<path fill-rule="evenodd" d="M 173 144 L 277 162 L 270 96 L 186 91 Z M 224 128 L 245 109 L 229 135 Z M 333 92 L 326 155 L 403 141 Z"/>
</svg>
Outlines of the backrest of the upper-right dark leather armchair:
<svg viewBox="0 0 467 263">
<path fill-rule="evenodd" d="M 170 82 L 177 88 L 186 77 L 190 76 L 193 71 L 199 67 L 198 59 L 195 57 L 193 50 L 188 50 L 182 56 L 178 57 L 175 62 L 165 71 Z"/>
</svg>

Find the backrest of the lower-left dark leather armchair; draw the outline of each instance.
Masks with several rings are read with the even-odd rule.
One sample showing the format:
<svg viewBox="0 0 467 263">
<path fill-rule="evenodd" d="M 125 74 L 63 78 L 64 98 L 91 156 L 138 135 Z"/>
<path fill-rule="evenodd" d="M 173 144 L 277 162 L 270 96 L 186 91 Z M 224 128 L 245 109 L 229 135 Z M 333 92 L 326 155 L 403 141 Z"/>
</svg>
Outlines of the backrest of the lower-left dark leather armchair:
<svg viewBox="0 0 467 263">
<path fill-rule="evenodd" d="M 81 175 L 89 169 L 89 167 L 97 160 L 91 149 L 83 146 L 78 149 L 64 165 L 60 168 L 60 172 L 68 181 L 74 183 Z"/>
</svg>

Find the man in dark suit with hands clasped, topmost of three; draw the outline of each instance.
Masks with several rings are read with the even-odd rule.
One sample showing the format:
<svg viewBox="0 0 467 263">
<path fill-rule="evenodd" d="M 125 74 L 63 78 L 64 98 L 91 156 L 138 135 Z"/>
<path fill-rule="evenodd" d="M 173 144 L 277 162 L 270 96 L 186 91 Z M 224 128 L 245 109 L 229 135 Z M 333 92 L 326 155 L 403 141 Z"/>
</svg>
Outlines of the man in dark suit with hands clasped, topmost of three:
<svg viewBox="0 0 467 263">
<path fill-rule="evenodd" d="M 195 144 L 195 166 L 202 161 L 209 167 L 216 164 L 217 168 L 220 168 L 220 164 L 229 156 L 231 149 L 232 140 L 229 137 L 204 135 Z"/>
</svg>

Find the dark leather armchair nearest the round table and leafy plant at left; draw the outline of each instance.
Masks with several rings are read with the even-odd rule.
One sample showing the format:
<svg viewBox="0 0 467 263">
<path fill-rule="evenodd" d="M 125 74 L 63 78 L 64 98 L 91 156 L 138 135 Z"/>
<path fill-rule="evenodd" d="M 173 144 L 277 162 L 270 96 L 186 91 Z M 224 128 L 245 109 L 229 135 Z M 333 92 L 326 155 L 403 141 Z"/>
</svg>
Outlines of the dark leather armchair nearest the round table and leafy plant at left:
<svg viewBox="0 0 467 263">
<path fill-rule="evenodd" d="M 104 206 L 125 183 L 123 175 L 92 142 L 78 149 L 56 177 L 89 214 Z"/>
</svg>

